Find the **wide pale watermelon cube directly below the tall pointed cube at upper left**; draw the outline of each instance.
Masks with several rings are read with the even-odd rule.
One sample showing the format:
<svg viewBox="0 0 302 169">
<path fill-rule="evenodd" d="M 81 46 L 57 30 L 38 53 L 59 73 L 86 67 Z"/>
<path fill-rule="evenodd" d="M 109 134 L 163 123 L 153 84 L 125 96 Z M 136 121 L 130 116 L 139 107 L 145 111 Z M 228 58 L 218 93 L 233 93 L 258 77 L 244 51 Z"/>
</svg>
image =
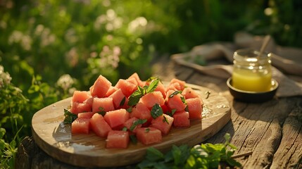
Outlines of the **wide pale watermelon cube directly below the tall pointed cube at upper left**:
<svg viewBox="0 0 302 169">
<path fill-rule="evenodd" d="M 92 103 L 92 112 L 107 112 L 115 110 L 113 105 L 113 99 L 111 97 L 94 97 L 94 101 Z"/>
</svg>

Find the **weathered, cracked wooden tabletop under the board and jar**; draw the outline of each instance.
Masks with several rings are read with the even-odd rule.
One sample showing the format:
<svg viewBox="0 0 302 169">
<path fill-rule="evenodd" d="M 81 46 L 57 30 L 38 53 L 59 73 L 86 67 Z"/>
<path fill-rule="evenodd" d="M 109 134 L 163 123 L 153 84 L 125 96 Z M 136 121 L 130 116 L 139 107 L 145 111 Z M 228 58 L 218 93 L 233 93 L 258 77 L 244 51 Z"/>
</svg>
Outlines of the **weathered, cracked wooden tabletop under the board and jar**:
<svg viewBox="0 0 302 169">
<path fill-rule="evenodd" d="M 225 142 L 223 136 L 228 132 L 232 135 L 231 143 L 238 148 L 235 154 L 253 151 L 251 156 L 237 158 L 244 168 L 302 168 L 302 96 L 246 104 L 233 100 L 224 79 L 209 77 L 167 60 L 159 63 L 153 66 L 154 75 L 163 80 L 177 77 L 213 89 L 229 101 L 231 120 L 206 142 Z M 20 144 L 16 167 L 75 168 L 47 156 L 31 138 Z"/>
</svg>

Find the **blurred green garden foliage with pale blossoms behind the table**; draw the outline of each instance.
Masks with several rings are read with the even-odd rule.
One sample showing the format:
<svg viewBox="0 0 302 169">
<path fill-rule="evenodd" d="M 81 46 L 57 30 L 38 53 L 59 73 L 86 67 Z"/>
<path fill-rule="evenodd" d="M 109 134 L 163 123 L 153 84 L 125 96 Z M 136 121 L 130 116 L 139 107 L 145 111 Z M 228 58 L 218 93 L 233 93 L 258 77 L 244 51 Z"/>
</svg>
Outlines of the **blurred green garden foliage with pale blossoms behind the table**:
<svg viewBox="0 0 302 169">
<path fill-rule="evenodd" d="M 299 0 L 0 1 L 1 167 L 13 167 L 34 112 L 98 75 L 146 80 L 153 59 L 239 30 L 301 47 L 301 15 Z"/>
</svg>

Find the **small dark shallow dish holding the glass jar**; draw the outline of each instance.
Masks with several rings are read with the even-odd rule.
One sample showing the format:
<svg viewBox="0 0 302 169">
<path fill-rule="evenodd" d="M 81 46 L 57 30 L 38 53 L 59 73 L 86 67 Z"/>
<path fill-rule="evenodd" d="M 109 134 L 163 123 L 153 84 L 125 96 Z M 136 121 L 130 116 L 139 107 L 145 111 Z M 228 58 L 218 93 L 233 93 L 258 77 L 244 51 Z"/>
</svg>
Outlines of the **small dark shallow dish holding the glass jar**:
<svg viewBox="0 0 302 169">
<path fill-rule="evenodd" d="M 227 86 L 229 92 L 234 96 L 234 99 L 238 101 L 250 102 L 250 103 L 261 103 L 272 99 L 275 96 L 278 89 L 278 82 L 272 79 L 272 87 L 268 92 L 249 92 L 240 89 L 236 89 L 232 86 L 232 77 L 227 80 Z"/>
</svg>

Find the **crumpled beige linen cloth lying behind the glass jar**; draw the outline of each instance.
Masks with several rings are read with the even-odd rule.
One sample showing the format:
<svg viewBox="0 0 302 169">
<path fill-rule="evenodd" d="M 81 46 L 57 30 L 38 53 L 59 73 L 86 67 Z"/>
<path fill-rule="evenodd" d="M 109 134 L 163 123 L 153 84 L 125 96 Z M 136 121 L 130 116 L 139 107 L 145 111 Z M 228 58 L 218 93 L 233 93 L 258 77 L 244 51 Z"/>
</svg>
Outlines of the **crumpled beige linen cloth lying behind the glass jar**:
<svg viewBox="0 0 302 169">
<path fill-rule="evenodd" d="M 206 75 L 227 79 L 232 75 L 234 51 L 244 48 L 260 50 L 263 38 L 237 32 L 234 42 L 202 44 L 187 53 L 172 55 L 171 58 L 177 64 L 194 68 Z M 265 51 L 272 53 L 272 78 L 279 82 L 276 96 L 302 96 L 302 49 L 278 46 L 271 39 Z M 201 61 L 207 64 L 198 64 Z"/>
</svg>

